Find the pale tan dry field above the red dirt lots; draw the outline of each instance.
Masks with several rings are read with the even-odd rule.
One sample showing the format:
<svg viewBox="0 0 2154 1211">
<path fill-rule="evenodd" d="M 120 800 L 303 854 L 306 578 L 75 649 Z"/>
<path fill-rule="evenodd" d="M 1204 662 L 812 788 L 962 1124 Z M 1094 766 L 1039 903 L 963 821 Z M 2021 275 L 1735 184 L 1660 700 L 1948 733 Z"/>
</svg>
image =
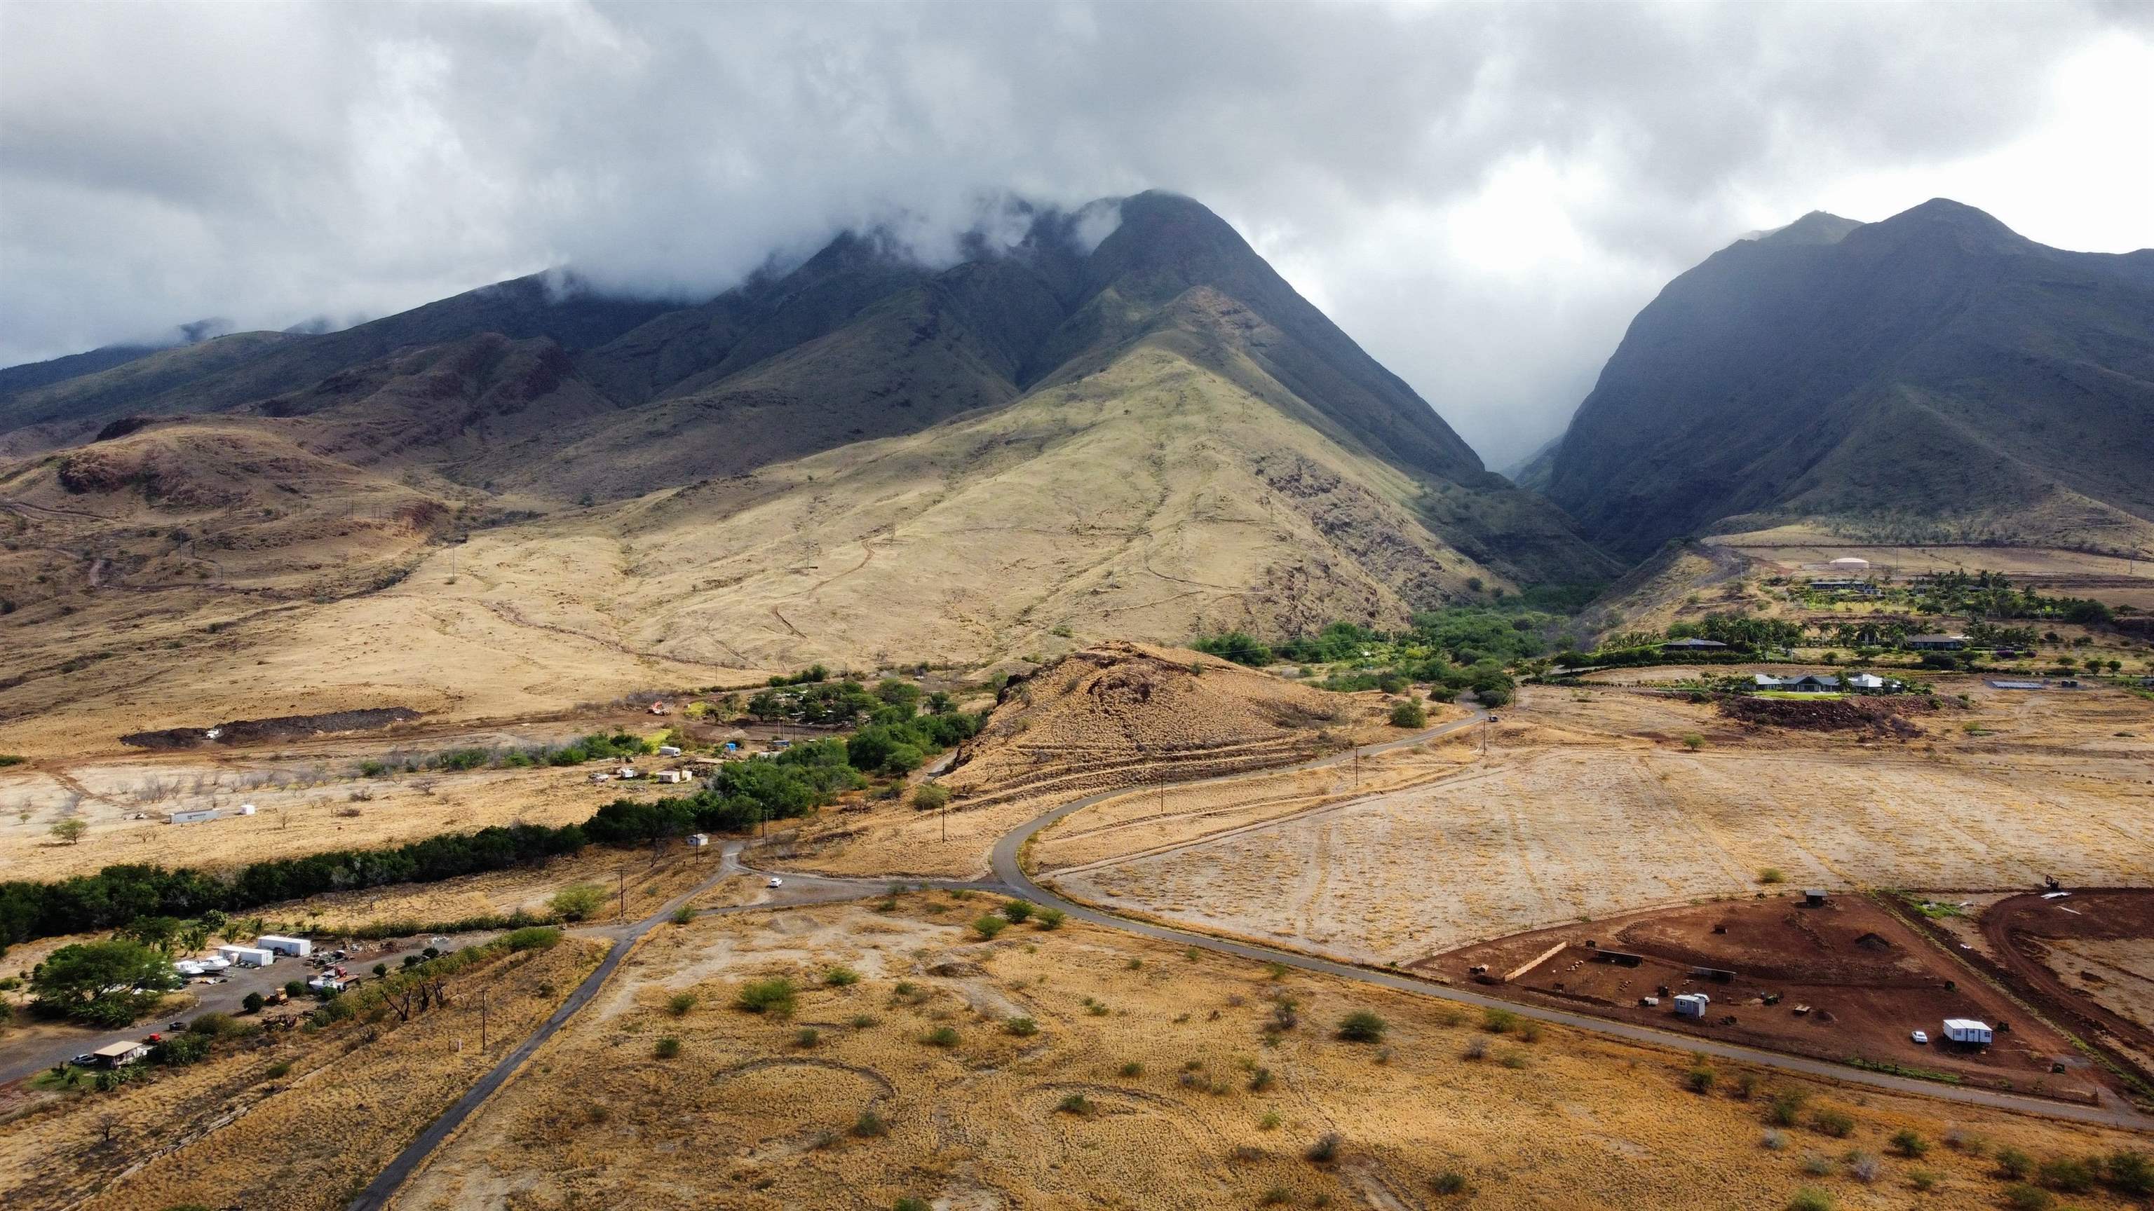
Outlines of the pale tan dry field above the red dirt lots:
<svg viewBox="0 0 2154 1211">
<path fill-rule="evenodd" d="M 1139 855 L 1122 862 L 1096 864 L 1088 849 L 1094 864 L 1058 886 L 1411 963 L 1564 920 L 1747 894 L 1766 868 L 1827 888 L 2154 881 L 2154 705 L 1967 694 L 1967 711 L 1924 718 L 1924 739 L 1868 743 L 1747 733 L 1665 696 L 1531 687 L 1491 728 L 1486 761 L 1174 849 L 1131 845 Z M 1262 795 L 1262 780 L 1247 793 Z M 1077 838 L 1088 815 L 1058 832 Z M 1051 832 L 1038 851 L 1058 845 Z"/>
</svg>

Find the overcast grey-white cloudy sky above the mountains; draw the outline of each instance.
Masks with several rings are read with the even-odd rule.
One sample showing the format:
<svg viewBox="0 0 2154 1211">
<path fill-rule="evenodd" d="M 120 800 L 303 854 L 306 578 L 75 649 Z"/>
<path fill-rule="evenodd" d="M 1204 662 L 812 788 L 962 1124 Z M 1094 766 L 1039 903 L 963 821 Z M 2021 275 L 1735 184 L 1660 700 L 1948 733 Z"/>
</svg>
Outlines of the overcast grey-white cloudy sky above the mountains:
<svg viewBox="0 0 2154 1211">
<path fill-rule="evenodd" d="M 0 364 L 549 265 L 702 297 L 1146 187 L 1506 465 L 1745 231 L 1952 196 L 2154 243 L 2154 4 L 0 0 Z"/>
</svg>

